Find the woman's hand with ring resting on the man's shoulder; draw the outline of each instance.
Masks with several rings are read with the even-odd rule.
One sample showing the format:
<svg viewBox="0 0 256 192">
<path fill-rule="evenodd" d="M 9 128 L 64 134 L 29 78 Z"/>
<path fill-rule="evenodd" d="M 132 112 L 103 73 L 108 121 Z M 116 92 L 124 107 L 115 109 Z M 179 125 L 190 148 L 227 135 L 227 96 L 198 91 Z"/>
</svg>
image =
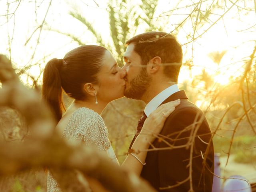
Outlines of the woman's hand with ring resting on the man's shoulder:
<svg viewBox="0 0 256 192">
<path fill-rule="evenodd" d="M 180 99 L 160 105 L 146 118 L 142 130 L 138 136 L 146 142 L 153 142 L 164 126 L 165 120 L 180 104 Z"/>
</svg>

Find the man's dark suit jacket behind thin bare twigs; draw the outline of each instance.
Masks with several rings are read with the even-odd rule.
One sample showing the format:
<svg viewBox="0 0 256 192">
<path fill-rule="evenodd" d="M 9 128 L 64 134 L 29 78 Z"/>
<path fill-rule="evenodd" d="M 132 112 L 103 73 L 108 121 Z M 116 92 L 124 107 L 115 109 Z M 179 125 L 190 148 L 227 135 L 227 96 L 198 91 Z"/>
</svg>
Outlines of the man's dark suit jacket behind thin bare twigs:
<svg viewBox="0 0 256 192">
<path fill-rule="evenodd" d="M 174 146 L 181 146 L 188 142 L 191 138 L 190 134 L 195 131 L 191 128 L 193 122 L 196 122 L 203 116 L 202 124 L 196 132 L 196 138 L 193 145 L 193 158 L 192 158 L 192 186 L 195 192 L 212 192 L 212 181 L 214 172 L 214 148 L 210 142 L 210 152 L 205 157 L 208 169 L 203 167 L 202 154 L 204 154 L 207 144 L 211 138 L 211 131 L 203 112 L 195 106 L 188 98 L 184 91 L 179 91 L 172 94 L 163 103 L 181 99 L 181 104 L 176 107 L 174 112 L 167 118 L 164 127 L 160 134 L 167 136 L 170 139 L 165 139 L 168 143 Z M 199 115 L 199 116 L 198 116 Z M 198 117 L 197 117 L 198 116 Z M 195 120 L 196 118 L 196 120 Z M 188 130 L 186 130 L 188 129 Z M 183 131 L 183 132 L 181 132 Z M 200 136 L 200 138 L 198 138 Z M 176 140 L 176 141 L 174 141 Z M 169 147 L 165 142 L 156 139 L 153 143 L 156 148 Z M 176 148 L 168 150 L 155 150 L 148 152 L 146 157 L 146 165 L 143 167 L 141 176 L 148 180 L 148 182 L 162 192 L 187 192 L 190 189 L 190 181 L 174 187 L 168 188 L 182 182 L 189 176 L 189 159 L 191 148 Z M 201 177 L 202 174 L 202 177 Z M 201 177 L 201 179 L 200 179 Z M 160 190 L 160 188 L 166 188 Z"/>
</svg>

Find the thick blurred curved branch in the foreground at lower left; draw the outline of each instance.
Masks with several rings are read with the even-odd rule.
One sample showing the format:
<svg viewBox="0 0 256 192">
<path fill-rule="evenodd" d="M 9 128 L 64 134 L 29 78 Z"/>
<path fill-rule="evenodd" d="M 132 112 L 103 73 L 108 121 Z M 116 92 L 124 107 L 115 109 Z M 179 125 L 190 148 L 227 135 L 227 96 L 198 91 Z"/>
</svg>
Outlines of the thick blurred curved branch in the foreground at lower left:
<svg viewBox="0 0 256 192">
<path fill-rule="evenodd" d="M 50 168 L 63 192 L 86 191 L 84 177 L 98 180 L 114 192 L 155 191 L 144 180 L 112 162 L 105 153 L 67 143 L 54 131 L 56 121 L 48 106 L 40 101 L 37 92 L 18 81 L 11 62 L 3 55 L 0 55 L 0 81 L 3 84 L 0 106 L 20 111 L 30 129 L 30 136 L 24 142 L 0 141 L 0 176 L 43 166 Z"/>
</svg>

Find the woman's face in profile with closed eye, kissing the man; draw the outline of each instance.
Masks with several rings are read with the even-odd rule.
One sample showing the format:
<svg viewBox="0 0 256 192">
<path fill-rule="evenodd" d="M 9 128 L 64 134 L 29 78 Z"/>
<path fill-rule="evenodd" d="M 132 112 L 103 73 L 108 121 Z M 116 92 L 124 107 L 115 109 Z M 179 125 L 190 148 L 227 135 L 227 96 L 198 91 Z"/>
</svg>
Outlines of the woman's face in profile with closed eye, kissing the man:
<svg viewBox="0 0 256 192">
<path fill-rule="evenodd" d="M 98 73 L 98 102 L 110 102 L 124 96 L 126 71 L 120 68 L 113 55 L 107 50 L 103 56 L 102 68 Z"/>
</svg>

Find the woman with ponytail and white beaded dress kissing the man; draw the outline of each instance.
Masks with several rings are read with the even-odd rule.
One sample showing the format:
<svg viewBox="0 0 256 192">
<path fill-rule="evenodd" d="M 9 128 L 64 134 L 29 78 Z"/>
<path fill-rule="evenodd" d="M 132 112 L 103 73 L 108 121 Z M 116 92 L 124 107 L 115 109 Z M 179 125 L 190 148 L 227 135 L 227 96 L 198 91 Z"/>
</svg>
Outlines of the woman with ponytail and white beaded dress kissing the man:
<svg viewBox="0 0 256 192">
<path fill-rule="evenodd" d="M 68 52 L 63 59 L 50 60 L 44 69 L 42 96 L 58 120 L 57 131 L 66 140 L 97 147 L 113 158 L 108 130 L 100 114 L 109 102 L 124 96 L 125 76 L 125 70 L 101 46 L 80 46 Z M 62 90 L 74 99 L 66 110 L 62 102 Z M 179 103 L 163 104 L 150 114 L 131 151 L 148 149 L 155 139 L 154 135 L 160 132 L 164 121 Z M 64 114 L 62 111 L 65 111 Z M 139 176 L 146 154 L 129 152 L 122 166 Z M 49 172 L 47 191 L 60 191 Z"/>
</svg>

